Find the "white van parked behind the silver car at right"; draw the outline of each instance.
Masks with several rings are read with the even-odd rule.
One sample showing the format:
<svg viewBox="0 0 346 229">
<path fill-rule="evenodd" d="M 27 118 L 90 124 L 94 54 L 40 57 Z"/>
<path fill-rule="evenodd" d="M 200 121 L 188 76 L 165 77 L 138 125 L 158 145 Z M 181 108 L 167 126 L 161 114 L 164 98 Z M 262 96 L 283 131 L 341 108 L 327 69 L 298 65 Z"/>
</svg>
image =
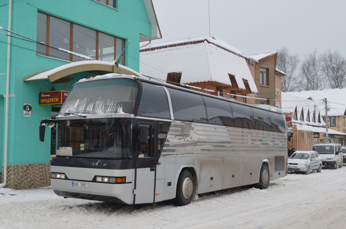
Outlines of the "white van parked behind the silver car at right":
<svg viewBox="0 0 346 229">
<path fill-rule="evenodd" d="M 330 167 L 336 170 L 343 167 L 343 153 L 341 144 L 316 144 L 312 150 L 317 151 L 322 159 L 322 167 Z"/>
</svg>

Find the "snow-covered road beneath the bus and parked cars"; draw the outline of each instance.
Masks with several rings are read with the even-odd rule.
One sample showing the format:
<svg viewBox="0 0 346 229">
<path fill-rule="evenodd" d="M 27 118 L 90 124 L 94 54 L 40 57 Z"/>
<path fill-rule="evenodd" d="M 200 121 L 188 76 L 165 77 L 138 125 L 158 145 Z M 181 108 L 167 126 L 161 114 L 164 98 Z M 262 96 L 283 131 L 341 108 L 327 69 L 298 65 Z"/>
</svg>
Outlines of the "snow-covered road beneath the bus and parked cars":
<svg viewBox="0 0 346 229">
<path fill-rule="evenodd" d="M 266 190 L 209 193 L 184 207 L 64 199 L 49 187 L 0 193 L 0 228 L 346 228 L 346 167 L 288 174 Z"/>
</svg>

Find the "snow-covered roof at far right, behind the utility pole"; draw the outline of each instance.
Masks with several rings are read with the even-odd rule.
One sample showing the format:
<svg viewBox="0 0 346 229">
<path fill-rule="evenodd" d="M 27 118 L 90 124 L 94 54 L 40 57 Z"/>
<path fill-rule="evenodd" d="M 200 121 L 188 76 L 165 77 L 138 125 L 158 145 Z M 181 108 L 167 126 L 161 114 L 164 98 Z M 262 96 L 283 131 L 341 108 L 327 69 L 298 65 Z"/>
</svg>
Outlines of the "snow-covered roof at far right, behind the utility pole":
<svg viewBox="0 0 346 229">
<path fill-rule="evenodd" d="M 346 88 L 325 89 L 325 90 L 312 90 L 301 92 L 286 92 L 289 95 L 295 95 L 304 99 L 311 97 L 316 103 L 323 103 L 324 98 L 327 98 L 328 116 L 344 116 L 346 115 Z M 324 103 L 321 109 L 321 115 L 325 116 Z"/>
</svg>

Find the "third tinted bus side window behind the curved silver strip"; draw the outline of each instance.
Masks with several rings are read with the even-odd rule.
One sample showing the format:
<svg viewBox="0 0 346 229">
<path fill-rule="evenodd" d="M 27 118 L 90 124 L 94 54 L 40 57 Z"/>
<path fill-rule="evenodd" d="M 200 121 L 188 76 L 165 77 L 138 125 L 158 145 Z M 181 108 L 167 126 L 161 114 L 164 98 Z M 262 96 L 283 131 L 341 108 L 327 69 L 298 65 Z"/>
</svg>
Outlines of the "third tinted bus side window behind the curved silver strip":
<svg viewBox="0 0 346 229">
<path fill-rule="evenodd" d="M 251 107 L 230 102 L 234 117 L 234 126 L 255 129 L 254 114 Z"/>
</svg>

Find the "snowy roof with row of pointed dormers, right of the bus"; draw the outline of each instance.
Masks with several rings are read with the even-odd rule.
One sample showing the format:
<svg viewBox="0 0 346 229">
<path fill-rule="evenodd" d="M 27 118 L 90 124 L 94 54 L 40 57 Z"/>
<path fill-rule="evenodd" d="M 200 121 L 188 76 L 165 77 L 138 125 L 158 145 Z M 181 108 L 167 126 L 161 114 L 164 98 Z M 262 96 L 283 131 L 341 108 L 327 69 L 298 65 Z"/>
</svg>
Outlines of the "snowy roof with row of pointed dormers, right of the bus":
<svg viewBox="0 0 346 229">
<path fill-rule="evenodd" d="M 326 123 L 320 118 L 318 122 L 318 114 L 324 110 L 324 105 L 313 100 L 303 99 L 287 92 L 281 92 L 281 110 L 286 113 L 295 111 L 297 108 L 297 119 L 292 119 L 294 123 L 325 127 Z M 315 121 L 313 121 L 313 113 L 315 111 Z M 301 120 L 301 113 L 303 112 L 303 120 Z M 308 114 L 310 121 L 308 119 Z M 321 116 L 321 114 L 320 114 Z"/>
</svg>

